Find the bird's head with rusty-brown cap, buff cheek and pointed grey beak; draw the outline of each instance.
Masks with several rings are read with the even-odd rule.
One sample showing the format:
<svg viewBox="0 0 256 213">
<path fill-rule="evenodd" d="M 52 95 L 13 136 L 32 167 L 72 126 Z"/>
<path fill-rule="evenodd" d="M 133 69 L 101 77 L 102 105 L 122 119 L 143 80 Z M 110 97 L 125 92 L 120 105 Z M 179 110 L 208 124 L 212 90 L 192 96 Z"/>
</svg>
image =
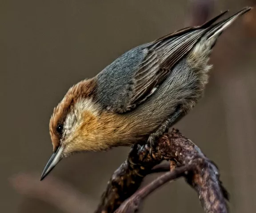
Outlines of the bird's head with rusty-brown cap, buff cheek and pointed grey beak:
<svg viewBox="0 0 256 213">
<path fill-rule="evenodd" d="M 96 83 L 84 80 L 71 87 L 53 110 L 49 128 L 53 154 L 41 176 L 49 174 L 64 157 L 82 151 L 99 151 L 108 145 L 99 138 L 100 106 L 93 100 Z"/>
</svg>

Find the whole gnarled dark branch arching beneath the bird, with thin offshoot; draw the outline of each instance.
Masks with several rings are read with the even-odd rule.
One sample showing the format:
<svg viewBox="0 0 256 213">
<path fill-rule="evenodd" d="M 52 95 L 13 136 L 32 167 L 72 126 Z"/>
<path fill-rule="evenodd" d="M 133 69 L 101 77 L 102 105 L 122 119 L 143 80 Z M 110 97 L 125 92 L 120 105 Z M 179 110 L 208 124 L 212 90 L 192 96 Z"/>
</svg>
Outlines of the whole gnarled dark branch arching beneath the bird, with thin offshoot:
<svg viewBox="0 0 256 213">
<path fill-rule="evenodd" d="M 217 167 L 206 158 L 191 140 L 185 138 L 175 129 L 158 140 L 158 146 L 152 150 L 152 156 L 147 145 L 135 145 L 132 147 L 128 159 L 116 170 L 110 179 L 107 190 L 103 194 L 102 201 L 96 212 L 109 213 L 117 209 L 116 212 L 124 213 L 124 210 L 127 210 L 129 206 L 134 207 L 130 208 L 130 212 L 134 212 L 144 196 L 151 193 L 156 187 L 151 183 L 145 189 L 140 189 L 136 192 L 143 177 L 154 172 L 154 170 L 166 170 L 166 165 L 152 169 L 164 159 L 174 159 L 180 165 L 185 166 L 181 167 L 188 171 L 188 174 L 184 175 L 184 177 L 188 184 L 198 193 L 201 204 L 206 212 L 228 212 L 224 199 L 228 199 L 228 193 L 219 180 Z M 168 174 L 180 174 L 181 168 L 177 168 L 173 170 L 173 173 Z M 165 175 L 159 177 L 158 181 L 164 182 L 166 180 Z M 171 177 L 176 178 L 176 176 Z M 141 190 L 144 191 L 144 196 L 141 196 Z M 134 195 L 132 196 L 132 194 Z M 127 198 L 129 199 L 125 201 Z M 118 209 L 121 203 L 123 205 Z"/>
</svg>

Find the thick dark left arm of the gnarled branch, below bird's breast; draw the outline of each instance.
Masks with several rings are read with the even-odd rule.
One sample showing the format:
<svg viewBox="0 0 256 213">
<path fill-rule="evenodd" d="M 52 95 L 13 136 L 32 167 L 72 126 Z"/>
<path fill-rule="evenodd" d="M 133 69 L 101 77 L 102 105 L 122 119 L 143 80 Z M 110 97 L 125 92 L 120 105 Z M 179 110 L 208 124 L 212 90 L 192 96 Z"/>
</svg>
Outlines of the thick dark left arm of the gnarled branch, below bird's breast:
<svg viewBox="0 0 256 213">
<path fill-rule="evenodd" d="M 96 213 L 114 212 L 124 200 L 136 192 L 143 177 L 150 174 L 152 168 L 162 160 L 152 160 L 147 146 L 133 146 L 128 159 L 114 172 L 108 182 Z"/>
</svg>

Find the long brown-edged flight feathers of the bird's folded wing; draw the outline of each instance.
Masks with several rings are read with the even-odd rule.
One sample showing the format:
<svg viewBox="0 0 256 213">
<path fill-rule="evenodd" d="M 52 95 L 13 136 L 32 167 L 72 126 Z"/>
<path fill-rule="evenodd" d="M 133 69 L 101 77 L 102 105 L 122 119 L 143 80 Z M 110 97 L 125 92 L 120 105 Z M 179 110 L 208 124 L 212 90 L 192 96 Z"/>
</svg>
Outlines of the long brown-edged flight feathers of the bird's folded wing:
<svg viewBox="0 0 256 213">
<path fill-rule="evenodd" d="M 129 107 L 138 105 L 153 94 L 151 91 L 164 81 L 172 68 L 192 49 L 204 31 L 204 29 L 195 30 L 172 38 L 171 42 L 159 41 L 157 45 L 153 43 L 148 47 L 148 55 L 135 74 L 134 93 Z"/>
</svg>

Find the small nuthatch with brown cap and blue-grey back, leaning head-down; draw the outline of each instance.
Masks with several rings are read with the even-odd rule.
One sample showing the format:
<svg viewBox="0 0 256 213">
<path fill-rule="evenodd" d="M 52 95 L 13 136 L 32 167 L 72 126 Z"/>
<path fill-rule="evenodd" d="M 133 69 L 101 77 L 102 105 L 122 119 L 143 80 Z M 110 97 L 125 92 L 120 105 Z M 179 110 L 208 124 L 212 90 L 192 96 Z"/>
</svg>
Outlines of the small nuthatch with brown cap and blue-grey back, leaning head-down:
<svg viewBox="0 0 256 213">
<path fill-rule="evenodd" d="M 220 20 L 182 28 L 125 52 L 69 88 L 49 122 L 53 153 L 43 180 L 71 154 L 103 151 L 157 139 L 198 103 L 208 83 L 217 39 L 246 7 Z"/>
</svg>

